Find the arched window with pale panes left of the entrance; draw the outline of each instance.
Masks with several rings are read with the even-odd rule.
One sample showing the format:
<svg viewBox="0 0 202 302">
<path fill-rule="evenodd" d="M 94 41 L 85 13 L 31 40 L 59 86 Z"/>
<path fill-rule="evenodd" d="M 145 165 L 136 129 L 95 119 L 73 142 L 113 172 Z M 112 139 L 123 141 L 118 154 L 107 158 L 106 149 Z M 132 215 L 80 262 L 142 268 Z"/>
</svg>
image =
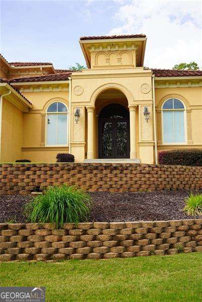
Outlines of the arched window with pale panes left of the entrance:
<svg viewBox="0 0 202 302">
<path fill-rule="evenodd" d="M 61 102 L 52 103 L 47 108 L 46 144 L 68 144 L 68 108 Z"/>
</svg>

